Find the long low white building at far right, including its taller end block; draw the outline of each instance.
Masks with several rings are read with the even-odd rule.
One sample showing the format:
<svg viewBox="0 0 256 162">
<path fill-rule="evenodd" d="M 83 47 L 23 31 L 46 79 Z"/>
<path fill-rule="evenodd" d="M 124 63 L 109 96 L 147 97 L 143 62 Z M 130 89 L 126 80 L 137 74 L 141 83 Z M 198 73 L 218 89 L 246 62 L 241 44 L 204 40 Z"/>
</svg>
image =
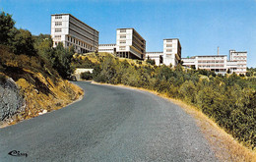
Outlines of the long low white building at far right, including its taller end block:
<svg viewBox="0 0 256 162">
<path fill-rule="evenodd" d="M 224 75 L 229 70 L 230 73 L 246 74 L 247 52 L 229 51 L 229 60 L 226 55 L 205 55 L 182 58 L 183 66 L 195 67 L 214 71 L 217 74 Z"/>
</svg>

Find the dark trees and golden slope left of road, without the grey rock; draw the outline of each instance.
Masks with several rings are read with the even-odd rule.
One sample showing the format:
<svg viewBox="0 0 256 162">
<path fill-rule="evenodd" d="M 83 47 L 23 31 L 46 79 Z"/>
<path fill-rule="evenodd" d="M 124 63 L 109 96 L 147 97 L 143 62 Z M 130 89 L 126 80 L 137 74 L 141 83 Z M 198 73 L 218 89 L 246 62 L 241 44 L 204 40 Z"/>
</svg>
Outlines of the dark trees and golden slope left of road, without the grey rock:
<svg viewBox="0 0 256 162">
<path fill-rule="evenodd" d="M 80 87 L 62 80 L 73 72 L 74 50 L 62 44 L 52 48 L 50 35 L 32 36 L 14 25 L 11 15 L 0 14 L 0 81 L 12 78 L 26 99 L 26 109 L 16 119 L 59 109 L 80 97 Z"/>
</svg>

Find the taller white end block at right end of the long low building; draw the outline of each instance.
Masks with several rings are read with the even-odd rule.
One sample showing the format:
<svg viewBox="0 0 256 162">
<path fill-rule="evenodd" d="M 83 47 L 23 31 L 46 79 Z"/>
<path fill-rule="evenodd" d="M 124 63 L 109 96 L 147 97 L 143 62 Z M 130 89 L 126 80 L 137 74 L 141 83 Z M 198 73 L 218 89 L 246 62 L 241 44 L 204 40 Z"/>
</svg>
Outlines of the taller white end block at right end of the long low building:
<svg viewBox="0 0 256 162">
<path fill-rule="evenodd" d="M 234 71 L 236 74 L 246 74 L 247 52 L 229 50 L 229 59 L 230 61 L 237 63 L 236 70 Z"/>
</svg>

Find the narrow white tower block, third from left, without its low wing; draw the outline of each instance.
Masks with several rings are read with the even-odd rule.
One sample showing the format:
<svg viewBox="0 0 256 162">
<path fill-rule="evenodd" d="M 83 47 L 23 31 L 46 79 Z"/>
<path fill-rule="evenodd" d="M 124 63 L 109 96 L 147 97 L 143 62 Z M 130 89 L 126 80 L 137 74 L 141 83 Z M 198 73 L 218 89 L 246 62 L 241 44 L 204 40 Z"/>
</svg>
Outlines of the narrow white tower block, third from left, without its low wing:
<svg viewBox="0 0 256 162">
<path fill-rule="evenodd" d="M 175 67 L 181 61 L 181 45 L 178 39 L 163 39 L 163 64 Z"/>
</svg>

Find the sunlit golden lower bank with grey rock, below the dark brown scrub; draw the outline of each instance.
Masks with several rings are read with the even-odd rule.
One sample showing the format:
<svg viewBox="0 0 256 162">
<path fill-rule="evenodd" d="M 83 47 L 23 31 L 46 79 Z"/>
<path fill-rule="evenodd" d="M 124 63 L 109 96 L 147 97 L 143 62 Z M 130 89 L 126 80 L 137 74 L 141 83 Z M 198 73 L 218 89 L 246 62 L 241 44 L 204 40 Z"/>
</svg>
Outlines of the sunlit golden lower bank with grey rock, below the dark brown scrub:
<svg viewBox="0 0 256 162">
<path fill-rule="evenodd" d="M 40 74 L 30 75 L 35 82 L 8 77 L 0 80 L 0 128 L 65 107 L 84 94 L 69 81 L 53 83 Z"/>
</svg>

